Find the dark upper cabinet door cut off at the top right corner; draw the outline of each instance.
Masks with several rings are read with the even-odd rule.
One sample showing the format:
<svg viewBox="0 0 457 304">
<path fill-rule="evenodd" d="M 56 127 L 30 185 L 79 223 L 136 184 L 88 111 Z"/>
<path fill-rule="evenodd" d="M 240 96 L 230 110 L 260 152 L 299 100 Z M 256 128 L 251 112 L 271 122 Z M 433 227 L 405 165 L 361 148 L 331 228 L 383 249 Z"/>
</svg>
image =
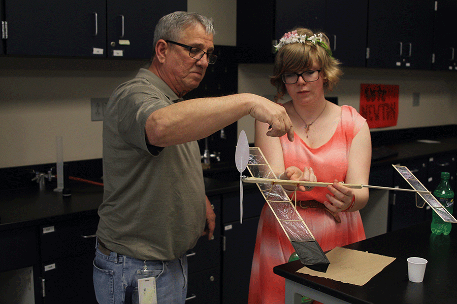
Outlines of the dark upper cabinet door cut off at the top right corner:
<svg viewBox="0 0 457 304">
<path fill-rule="evenodd" d="M 457 71 L 456 0 L 439 0 L 435 6 L 433 69 Z"/>
</svg>

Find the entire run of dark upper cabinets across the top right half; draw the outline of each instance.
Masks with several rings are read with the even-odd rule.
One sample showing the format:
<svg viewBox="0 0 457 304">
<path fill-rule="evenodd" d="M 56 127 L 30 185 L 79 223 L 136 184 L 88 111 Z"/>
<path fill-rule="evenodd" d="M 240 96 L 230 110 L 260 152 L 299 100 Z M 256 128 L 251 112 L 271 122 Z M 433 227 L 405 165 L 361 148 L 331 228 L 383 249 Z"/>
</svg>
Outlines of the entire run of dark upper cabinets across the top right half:
<svg viewBox="0 0 457 304">
<path fill-rule="evenodd" d="M 237 6 L 241 63 L 269 63 L 296 26 L 323 30 L 344 66 L 457 70 L 453 0 L 255 1 Z"/>
</svg>

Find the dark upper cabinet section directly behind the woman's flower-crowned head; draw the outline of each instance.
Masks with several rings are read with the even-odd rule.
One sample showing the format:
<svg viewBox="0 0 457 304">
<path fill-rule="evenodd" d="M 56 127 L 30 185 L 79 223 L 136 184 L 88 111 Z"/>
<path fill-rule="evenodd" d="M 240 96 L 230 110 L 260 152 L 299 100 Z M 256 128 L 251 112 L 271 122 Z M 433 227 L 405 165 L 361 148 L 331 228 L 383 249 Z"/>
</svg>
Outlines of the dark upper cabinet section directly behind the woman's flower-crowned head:
<svg viewBox="0 0 457 304">
<path fill-rule="evenodd" d="M 365 66 L 368 0 L 255 0 L 237 6 L 237 46 L 241 62 L 273 62 L 273 45 L 295 27 L 325 32 L 344 65 Z"/>
</svg>

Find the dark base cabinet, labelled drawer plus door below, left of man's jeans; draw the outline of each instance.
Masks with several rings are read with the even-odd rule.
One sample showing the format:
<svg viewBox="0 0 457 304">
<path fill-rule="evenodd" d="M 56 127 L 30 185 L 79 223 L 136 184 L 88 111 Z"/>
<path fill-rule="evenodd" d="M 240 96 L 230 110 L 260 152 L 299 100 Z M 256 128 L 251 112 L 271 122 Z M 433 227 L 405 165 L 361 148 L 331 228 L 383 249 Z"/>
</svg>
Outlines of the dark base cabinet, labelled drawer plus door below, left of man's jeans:
<svg viewBox="0 0 457 304">
<path fill-rule="evenodd" d="M 44 304 L 96 304 L 92 280 L 98 216 L 40 226 Z"/>
</svg>

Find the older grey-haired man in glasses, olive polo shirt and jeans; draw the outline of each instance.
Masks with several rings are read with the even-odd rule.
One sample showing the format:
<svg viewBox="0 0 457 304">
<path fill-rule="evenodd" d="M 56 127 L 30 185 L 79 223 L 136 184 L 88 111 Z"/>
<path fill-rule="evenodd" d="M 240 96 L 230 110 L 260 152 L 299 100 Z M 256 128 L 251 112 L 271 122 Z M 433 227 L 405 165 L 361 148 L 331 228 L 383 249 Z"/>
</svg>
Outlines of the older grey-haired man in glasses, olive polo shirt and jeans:
<svg viewBox="0 0 457 304">
<path fill-rule="evenodd" d="M 156 296 L 184 303 L 186 251 L 215 215 L 205 196 L 197 139 L 245 115 L 266 122 L 270 136 L 288 134 L 281 105 L 252 94 L 184 101 L 197 88 L 212 52 L 213 23 L 199 14 L 162 17 L 148 69 L 112 94 L 103 125 L 104 200 L 99 209 L 94 287 L 100 303 Z M 152 292 L 156 288 L 156 294 Z"/>
</svg>

